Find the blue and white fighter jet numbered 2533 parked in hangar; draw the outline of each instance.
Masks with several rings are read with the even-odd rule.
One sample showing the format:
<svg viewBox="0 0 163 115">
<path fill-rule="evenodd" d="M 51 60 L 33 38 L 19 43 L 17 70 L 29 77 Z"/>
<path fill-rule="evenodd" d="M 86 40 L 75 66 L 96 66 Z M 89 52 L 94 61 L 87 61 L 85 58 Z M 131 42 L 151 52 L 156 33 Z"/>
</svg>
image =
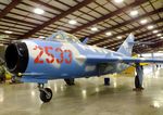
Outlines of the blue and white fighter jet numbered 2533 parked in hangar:
<svg viewBox="0 0 163 115">
<path fill-rule="evenodd" d="M 37 82 L 42 102 L 52 98 L 45 84 L 64 79 L 74 85 L 75 78 L 121 73 L 136 65 L 135 87 L 142 88 L 142 69 L 139 63 L 163 63 L 163 60 L 133 59 L 134 36 L 130 34 L 120 49 L 111 51 L 80 42 L 75 36 L 58 31 L 49 38 L 23 39 L 8 46 L 5 62 L 10 72 L 24 82 Z"/>
</svg>

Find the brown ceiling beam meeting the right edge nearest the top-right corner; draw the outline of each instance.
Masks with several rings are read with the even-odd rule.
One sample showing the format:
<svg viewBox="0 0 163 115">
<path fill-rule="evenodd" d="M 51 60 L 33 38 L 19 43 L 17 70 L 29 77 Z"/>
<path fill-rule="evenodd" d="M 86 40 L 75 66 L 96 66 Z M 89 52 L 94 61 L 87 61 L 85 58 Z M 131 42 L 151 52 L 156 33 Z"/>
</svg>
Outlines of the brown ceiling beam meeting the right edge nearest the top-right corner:
<svg viewBox="0 0 163 115">
<path fill-rule="evenodd" d="M 155 11 L 146 13 L 146 14 L 140 15 L 140 16 L 138 16 L 138 17 L 131 18 L 131 20 L 129 20 L 129 21 L 125 21 L 124 23 L 117 24 L 117 25 L 115 25 L 115 26 L 106 27 L 105 29 L 103 29 L 103 30 L 101 30 L 101 31 L 98 31 L 98 33 L 95 33 L 95 34 L 91 34 L 91 35 L 89 35 L 89 36 L 87 36 L 87 37 L 88 37 L 88 38 L 93 38 L 95 36 L 98 36 L 98 35 L 100 35 L 100 34 L 106 33 L 108 30 L 113 30 L 113 29 L 123 27 L 123 26 L 125 26 L 125 25 L 127 25 L 127 24 L 137 22 L 137 21 L 139 21 L 139 20 L 141 20 L 141 18 L 145 18 L 145 17 L 147 17 L 147 16 L 156 14 L 156 13 L 159 13 L 159 12 L 163 12 L 163 8 L 160 8 L 160 9 L 158 9 L 158 10 L 155 10 Z"/>
</svg>

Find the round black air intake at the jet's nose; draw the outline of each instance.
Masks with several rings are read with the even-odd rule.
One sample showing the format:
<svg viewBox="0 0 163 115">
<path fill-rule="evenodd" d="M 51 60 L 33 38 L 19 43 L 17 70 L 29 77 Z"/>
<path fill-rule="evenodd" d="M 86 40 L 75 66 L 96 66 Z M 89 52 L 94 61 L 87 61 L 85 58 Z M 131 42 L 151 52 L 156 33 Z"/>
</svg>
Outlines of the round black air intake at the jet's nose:
<svg viewBox="0 0 163 115">
<path fill-rule="evenodd" d="M 12 73 L 24 73 L 28 64 L 28 49 L 25 42 L 11 43 L 5 50 L 7 67 Z"/>
</svg>

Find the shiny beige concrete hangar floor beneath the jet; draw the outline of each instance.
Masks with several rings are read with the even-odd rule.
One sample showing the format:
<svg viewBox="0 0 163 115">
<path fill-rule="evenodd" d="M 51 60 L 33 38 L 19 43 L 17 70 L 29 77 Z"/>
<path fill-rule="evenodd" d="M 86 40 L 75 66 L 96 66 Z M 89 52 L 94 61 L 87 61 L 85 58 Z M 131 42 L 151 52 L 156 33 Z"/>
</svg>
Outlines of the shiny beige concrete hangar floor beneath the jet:
<svg viewBox="0 0 163 115">
<path fill-rule="evenodd" d="M 163 68 L 145 69 L 145 90 L 133 91 L 134 77 L 77 79 L 70 87 L 63 80 L 50 81 L 49 103 L 39 100 L 35 84 L 0 85 L 0 115 L 162 115 Z"/>
</svg>

